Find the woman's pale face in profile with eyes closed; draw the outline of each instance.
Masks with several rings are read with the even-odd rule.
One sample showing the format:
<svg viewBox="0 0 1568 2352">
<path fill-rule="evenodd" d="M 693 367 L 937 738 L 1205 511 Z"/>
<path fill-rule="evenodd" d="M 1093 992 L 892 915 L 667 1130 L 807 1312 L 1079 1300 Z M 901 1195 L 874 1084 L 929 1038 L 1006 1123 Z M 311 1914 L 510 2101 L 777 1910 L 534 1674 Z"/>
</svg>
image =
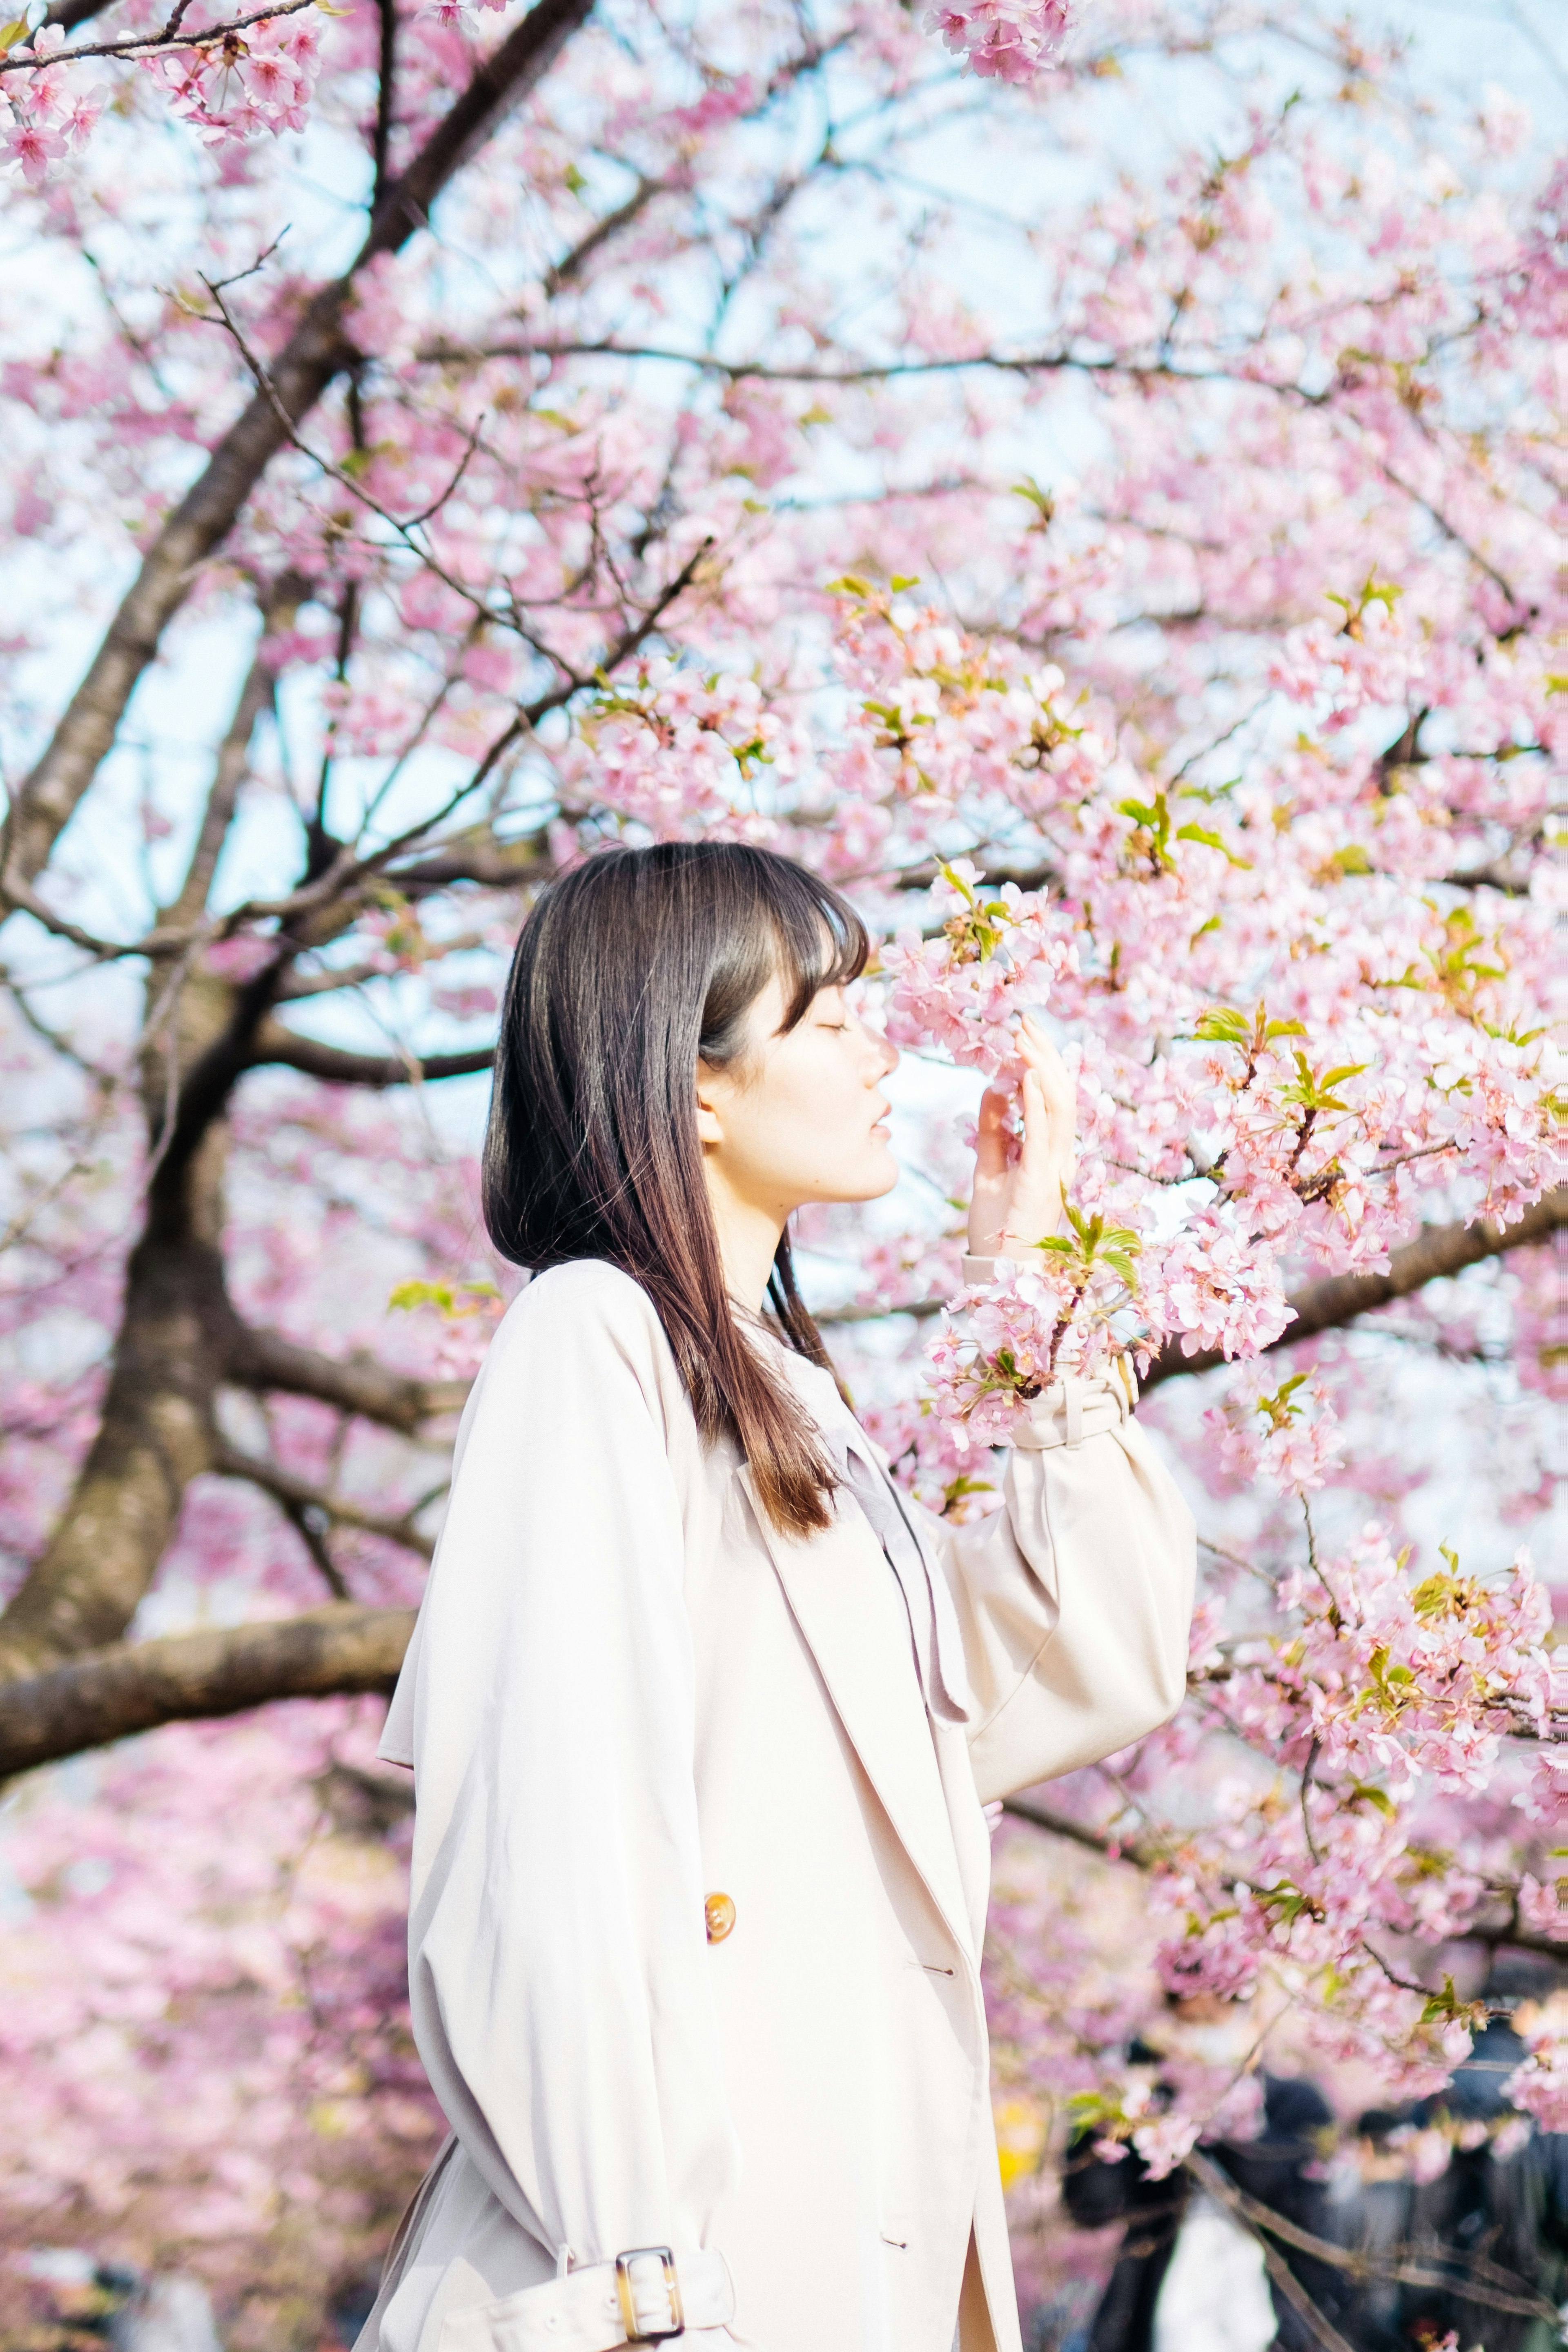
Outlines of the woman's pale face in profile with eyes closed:
<svg viewBox="0 0 1568 2352">
<path fill-rule="evenodd" d="M 783 1218 L 809 1200 L 879 1200 L 898 1183 L 882 1080 L 898 1054 L 820 988 L 780 1035 L 785 988 L 771 978 L 748 1014 L 748 1049 L 698 1063 L 698 1134 L 710 1183 Z"/>
</svg>

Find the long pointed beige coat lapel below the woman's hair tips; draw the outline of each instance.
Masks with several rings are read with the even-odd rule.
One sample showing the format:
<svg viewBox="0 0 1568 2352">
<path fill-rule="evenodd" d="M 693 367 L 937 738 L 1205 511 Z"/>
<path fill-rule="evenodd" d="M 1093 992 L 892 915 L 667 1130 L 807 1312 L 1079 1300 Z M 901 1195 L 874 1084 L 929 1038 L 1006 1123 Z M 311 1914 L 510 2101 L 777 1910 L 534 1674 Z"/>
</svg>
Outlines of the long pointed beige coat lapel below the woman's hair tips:
<svg viewBox="0 0 1568 2352">
<path fill-rule="evenodd" d="M 943 1776 L 914 1672 L 898 1581 L 882 1545 L 846 1512 L 816 1536 L 785 1536 L 757 1503 L 750 1470 L 741 1484 L 778 1581 L 827 1696 L 877 1790 L 893 1835 L 931 1900 L 973 1959 L 973 1933 Z"/>
</svg>

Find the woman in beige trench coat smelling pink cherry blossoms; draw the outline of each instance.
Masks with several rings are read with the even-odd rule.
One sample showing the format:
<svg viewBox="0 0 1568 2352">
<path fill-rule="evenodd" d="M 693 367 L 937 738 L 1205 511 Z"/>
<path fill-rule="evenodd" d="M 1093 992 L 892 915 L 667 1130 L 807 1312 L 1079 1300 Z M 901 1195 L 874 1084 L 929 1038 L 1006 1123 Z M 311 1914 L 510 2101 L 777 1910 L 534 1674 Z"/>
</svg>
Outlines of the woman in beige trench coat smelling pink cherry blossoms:
<svg viewBox="0 0 1568 2352">
<path fill-rule="evenodd" d="M 1020 1409 L 1006 1512 L 889 1484 L 788 1242 L 898 1174 L 865 953 L 729 844 L 604 851 L 517 941 L 484 1214 L 534 1279 L 381 1748 L 454 2138 L 360 2352 L 1018 2352 L 980 1806 L 1173 1712 L 1192 1522 L 1114 1381 Z M 1067 1075 L 1023 1054 L 971 1277 L 1072 1174 Z"/>
</svg>

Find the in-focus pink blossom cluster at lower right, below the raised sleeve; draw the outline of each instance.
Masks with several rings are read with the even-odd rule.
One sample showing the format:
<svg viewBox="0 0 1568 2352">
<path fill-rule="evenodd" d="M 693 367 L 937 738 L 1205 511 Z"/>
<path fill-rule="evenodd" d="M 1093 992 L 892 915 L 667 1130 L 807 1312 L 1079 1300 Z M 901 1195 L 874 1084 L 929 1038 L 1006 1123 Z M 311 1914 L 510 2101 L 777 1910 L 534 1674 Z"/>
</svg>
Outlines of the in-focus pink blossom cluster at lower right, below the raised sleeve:
<svg viewBox="0 0 1568 2352">
<path fill-rule="evenodd" d="M 1234 1778 L 1208 1828 L 1171 1832 L 1154 1856 L 1154 1898 L 1180 1919 L 1159 1969 L 1175 1994 L 1227 2002 L 1267 1971 L 1321 2049 L 1420 2096 L 1465 2056 L 1479 2011 L 1410 1990 L 1389 1955 L 1495 1915 L 1486 1863 L 1439 1856 L 1425 1816 L 1434 1799 L 1505 1792 L 1505 1743 L 1552 1736 L 1547 1592 L 1523 1562 L 1502 1583 L 1462 1576 L 1453 1557 L 1422 1576 L 1368 1526 L 1338 1559 L 1284 1578 L 1276 1606 L 1284 1632 L 1227 1637 L 1222 1606 L 1194 1623 L 1194 1691 L 1265 1776 Z M 1286 1797 L 1281 1769 L 1300 1795 Z M 1526 1900 L 1528 1931 L 1559 1938 L 1556 1889 L 1530 1882 L 1521 1917 Z M 1568 2122 L 1549 2034 L 1509 2096 L 1552 2129 Z"/>
</svg>

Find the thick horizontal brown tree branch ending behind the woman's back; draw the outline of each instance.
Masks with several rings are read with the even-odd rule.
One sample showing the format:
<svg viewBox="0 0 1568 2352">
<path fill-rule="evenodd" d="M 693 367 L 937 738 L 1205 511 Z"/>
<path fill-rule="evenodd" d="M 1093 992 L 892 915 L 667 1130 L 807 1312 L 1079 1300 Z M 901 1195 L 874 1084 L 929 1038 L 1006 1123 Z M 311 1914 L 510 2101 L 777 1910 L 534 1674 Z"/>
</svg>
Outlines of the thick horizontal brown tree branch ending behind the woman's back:
<svg viewBox="0 0 1568 2352">
<path fill-rule="evenodd" d="M 411 1609 L 334 1602 L 294 1618 L 89 1651 L 0 1684 L 0 1776 L 273 1698 L 390 1691 L 411 1630 Z"/>
</svg>

